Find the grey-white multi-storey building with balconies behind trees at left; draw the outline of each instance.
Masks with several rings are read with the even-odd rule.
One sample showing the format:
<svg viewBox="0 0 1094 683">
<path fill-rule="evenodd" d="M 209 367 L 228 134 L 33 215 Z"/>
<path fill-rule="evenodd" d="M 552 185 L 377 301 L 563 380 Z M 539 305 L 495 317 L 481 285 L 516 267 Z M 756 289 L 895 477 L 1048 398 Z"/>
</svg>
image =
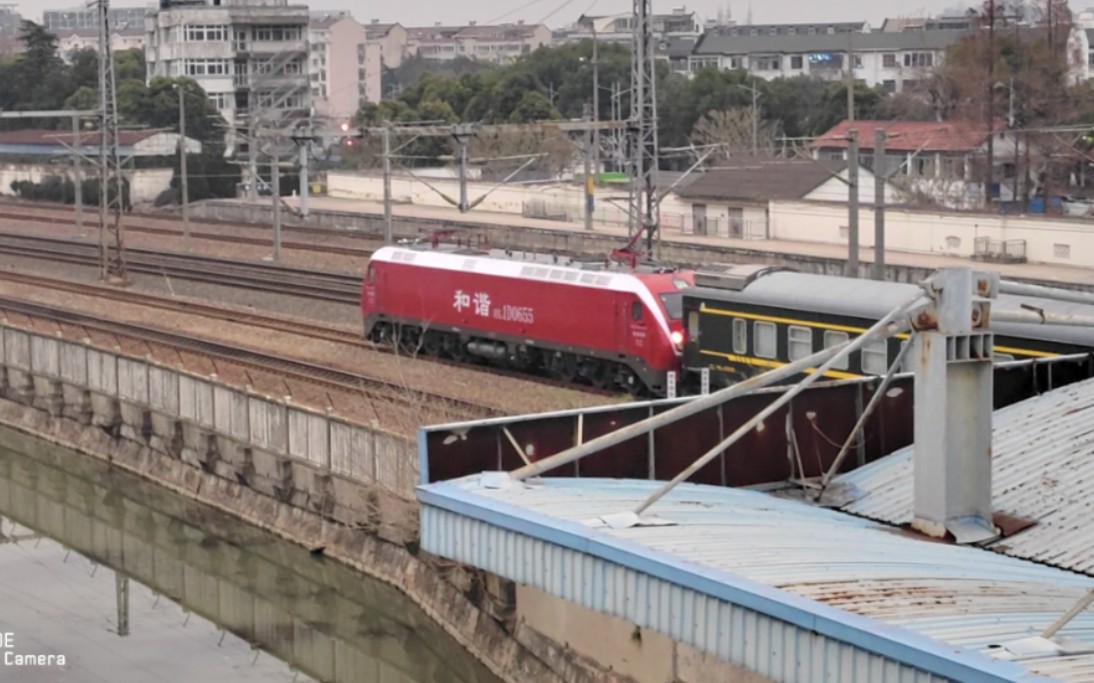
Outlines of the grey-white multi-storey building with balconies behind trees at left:
<svg viewBox="0 0 1094 683">
<path fill-rule="evenodd" d="M 287 0 L 161 0 L 146 18 L 148 78 L 197 81 L 230 134 L 290 128 L 311 114 L 309 21 L 306 5 Z"/>
</svg>

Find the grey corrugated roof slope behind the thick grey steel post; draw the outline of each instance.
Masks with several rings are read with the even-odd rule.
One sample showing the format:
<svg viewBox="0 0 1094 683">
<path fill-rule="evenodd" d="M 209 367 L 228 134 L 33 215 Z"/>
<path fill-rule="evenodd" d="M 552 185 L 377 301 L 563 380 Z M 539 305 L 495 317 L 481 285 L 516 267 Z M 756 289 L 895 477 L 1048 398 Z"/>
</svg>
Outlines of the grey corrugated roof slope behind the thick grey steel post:
<svg viewBox="0 0 1094 683">
<path fill-rule="evenodd" d="M 996 512 L 1036 521 L 993 551 L 1094 576 L 1094 380 L 1028 398 L 993 416 Z M 889 524 L 912 518 L 911 447 L 834 479 L 842 510 Z"/>
</svg>

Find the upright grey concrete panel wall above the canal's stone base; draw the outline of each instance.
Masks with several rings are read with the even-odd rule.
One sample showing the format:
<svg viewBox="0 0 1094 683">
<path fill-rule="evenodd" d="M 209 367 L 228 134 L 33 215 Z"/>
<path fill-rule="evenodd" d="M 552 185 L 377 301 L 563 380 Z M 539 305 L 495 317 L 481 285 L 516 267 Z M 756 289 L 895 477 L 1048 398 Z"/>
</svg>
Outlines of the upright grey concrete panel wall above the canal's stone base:
<svg viewBox="0 0 1094 683">
<path fill-rule="evenodd" d="M 335 522 L 417 535 L 414 442 L 150 360 L 0 325 L 0 389 Z"/>
</svg>

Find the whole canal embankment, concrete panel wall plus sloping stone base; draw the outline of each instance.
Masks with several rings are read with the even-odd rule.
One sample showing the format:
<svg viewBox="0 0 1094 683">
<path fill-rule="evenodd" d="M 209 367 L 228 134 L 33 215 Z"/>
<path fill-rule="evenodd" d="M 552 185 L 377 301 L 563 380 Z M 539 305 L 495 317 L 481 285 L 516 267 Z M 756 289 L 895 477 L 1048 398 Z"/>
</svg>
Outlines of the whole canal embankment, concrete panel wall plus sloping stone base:
<svg viewBox="0 0 1094 683">
<path fill-rule="evenodd" d="M 418 453 L 405 438 L 10 325 L 0 422 L 397 587 L 503 680 L 615 680 L 516 623 L 512 584 L 417 551 Z"/>
</svg>

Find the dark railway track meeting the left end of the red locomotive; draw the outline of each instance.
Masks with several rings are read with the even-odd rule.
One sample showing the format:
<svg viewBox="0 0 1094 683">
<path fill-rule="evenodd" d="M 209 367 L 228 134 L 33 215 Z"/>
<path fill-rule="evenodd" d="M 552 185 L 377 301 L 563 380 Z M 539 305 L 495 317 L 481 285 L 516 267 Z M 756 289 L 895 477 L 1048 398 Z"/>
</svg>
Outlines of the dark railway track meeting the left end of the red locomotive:
<svg viewBox="0 0 1094 683">
<path fill-rule="evenodd" d="M 89 267 L 97 267 L 100 259 L 97 244 L 13 233 L 0 233 L 0 254 Z M 132 273 L 353 305 L 360 301 L 361 277 L 357 275 L 133 247 L 126 250 L 126 254 Z"/>
</svg>

